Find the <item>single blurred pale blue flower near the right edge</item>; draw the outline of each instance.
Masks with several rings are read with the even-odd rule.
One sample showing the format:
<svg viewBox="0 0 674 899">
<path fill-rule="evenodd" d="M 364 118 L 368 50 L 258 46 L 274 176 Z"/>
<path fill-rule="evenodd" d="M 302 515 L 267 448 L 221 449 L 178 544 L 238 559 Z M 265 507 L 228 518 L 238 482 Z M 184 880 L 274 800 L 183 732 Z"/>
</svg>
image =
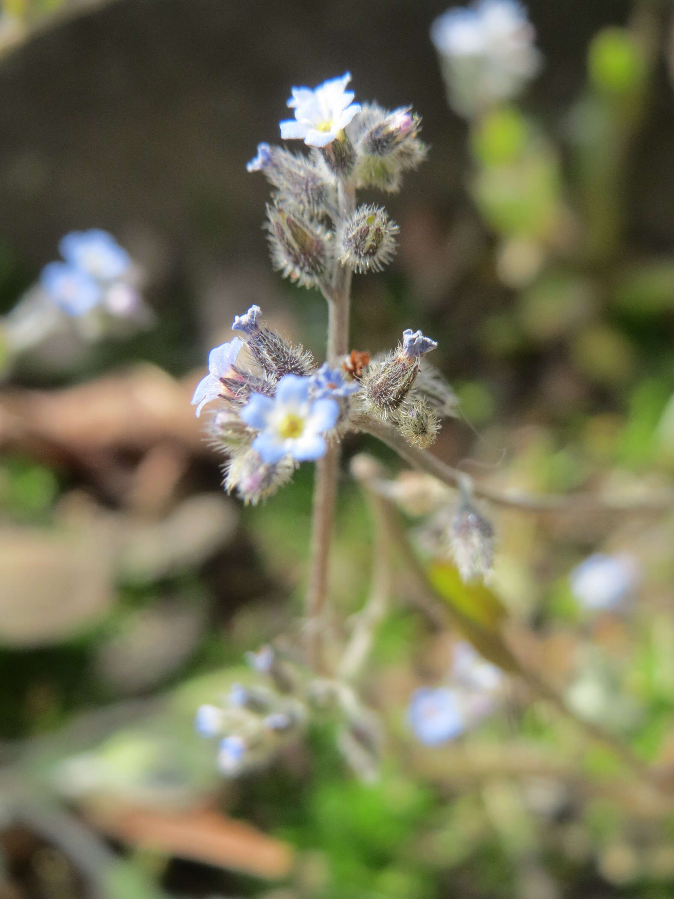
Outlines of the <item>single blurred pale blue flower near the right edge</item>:
<svg viewBox="0 0 674 899">
<path fill-rule="evenodd" d="M 593 553 L 569 574 L 574 597 L 592 611 L 616 609 L 639 582 L 639 566 L 632 556 Z"/>
</svg>

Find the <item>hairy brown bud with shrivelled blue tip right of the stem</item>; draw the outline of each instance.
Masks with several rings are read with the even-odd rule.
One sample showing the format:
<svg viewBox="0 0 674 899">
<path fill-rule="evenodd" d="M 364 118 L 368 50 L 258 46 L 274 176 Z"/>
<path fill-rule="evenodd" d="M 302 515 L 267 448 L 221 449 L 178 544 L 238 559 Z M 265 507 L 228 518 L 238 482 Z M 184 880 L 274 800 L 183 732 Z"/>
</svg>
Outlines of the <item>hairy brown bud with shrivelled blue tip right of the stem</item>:
<svg viewBox="0 0 674 899">
<path fill-rule="evenodd" d="M 361 381 L 361 396 L 366 412 L 380 418 L 395 417 L 414 386 L 421 355 L 434 350 L 438 344 L 424 337 L 421 331 L 403 332 L 403 343 L 385 359 L 370 364 Z"/>
</svg>

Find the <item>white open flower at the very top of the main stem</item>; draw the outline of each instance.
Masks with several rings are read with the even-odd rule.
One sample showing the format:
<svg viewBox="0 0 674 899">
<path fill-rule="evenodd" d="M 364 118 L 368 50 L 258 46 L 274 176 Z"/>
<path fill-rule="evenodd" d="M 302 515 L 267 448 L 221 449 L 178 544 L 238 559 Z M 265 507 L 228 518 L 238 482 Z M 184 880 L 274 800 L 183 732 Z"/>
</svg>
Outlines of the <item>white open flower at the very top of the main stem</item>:
<svg viewBox="0 0 674 899">
<path fill-rule="evenodd" d="M 351 102 L 353 92 L 346 90 L 351 80 L 347 72 L 332 78 L 313 91 L 308 87 L 293 87 L 288 100 L 295 110 L 295 119 L 280 122 L 281 138 L 304 140 L 308 147 L 327 147 L 346 128 L 360 111 L 360 104 Z"/>
</svg>

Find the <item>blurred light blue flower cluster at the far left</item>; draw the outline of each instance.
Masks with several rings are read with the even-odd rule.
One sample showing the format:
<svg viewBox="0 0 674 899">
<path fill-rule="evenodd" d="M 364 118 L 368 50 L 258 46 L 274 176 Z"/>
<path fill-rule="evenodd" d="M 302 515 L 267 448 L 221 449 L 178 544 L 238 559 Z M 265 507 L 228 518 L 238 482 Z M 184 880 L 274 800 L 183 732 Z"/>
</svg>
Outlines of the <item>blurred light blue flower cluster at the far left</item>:
<svg viewBox="0 0 674 899">
<path fill-rule="evenodd" d="M 96 309 L 116 318 L 134 318 L 146 311 L 134 284 L 131 257 L 107 231 L 72 231 L 58 249 L 65 262 L 45 265 L 40 285 L 67 316 L 86 316 Z"/>
</svg>

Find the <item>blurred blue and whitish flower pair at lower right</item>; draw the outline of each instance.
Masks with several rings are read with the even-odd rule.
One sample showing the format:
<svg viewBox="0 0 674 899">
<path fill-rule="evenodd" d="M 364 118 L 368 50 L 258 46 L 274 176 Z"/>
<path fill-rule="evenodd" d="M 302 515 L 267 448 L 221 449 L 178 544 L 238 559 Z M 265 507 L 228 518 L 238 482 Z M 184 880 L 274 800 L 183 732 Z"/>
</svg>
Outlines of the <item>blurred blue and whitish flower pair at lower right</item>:
<svg viewBox="0 0 674 899">
<path fill-rule="evenodd" d="M 457 643 L 448 685 L 420 687 L 410 700 L 407 718 L 415 736 L 428 746 L 448 743 L 492 714 L 503 674 L 469 643 Z"/>
</svg>

